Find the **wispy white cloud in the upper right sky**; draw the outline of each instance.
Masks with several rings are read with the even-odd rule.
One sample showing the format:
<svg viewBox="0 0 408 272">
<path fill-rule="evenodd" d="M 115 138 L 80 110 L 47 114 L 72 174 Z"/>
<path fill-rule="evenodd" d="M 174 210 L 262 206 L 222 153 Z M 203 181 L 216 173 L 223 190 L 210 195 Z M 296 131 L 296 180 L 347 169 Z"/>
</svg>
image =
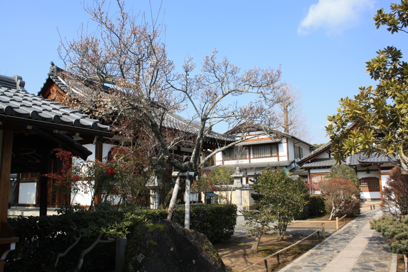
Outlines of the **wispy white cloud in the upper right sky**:
<svg viewBox="0 0 408 272">
<path fill-rule="evenodd" d="M 317 29 L 327 33 L 340 33 L 359 21 L 360 13 L 373 7 L 373 0 L 319 0 L 309 8 L 300 22 L 297 33 L 307 35 Z"/>
</svg>

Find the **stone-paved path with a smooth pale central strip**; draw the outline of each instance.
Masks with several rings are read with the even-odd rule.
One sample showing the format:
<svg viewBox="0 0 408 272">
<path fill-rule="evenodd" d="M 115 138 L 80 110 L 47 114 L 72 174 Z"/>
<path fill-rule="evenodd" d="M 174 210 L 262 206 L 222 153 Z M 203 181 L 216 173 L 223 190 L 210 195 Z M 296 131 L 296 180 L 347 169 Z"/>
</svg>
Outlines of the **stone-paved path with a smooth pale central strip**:
<svg viewBox="0 0 408 272">
<path fill-rule="evenodd" d="M 370 229 L 369 221 L 380 216 L 378 210 L 361 214 L 279 271 L 395 272 L 397 257 L 388 247 L 391 239 Z"/>
</svg>

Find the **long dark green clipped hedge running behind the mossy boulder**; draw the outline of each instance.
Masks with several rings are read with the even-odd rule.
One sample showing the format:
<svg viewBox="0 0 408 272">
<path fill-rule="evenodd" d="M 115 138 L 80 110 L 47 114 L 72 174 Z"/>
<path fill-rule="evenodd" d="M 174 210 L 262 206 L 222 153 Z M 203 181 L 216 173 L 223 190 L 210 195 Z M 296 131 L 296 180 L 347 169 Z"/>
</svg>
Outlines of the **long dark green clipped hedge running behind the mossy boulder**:
<svg viewBox="0 0 408 272">
<path fill-rule="evenodd" d="M 70 210 L 70 209 L 69 209 Z M 234 233 L 237 218 L 235 205 L 192 205 L 190 213 L 190 229 L 205 234 L 213 243 L 227 240 Z M 136 215 L 133 221 L 140 222 L 142 216 L 154 222 L 167 217 L 167 210 L 132 210 L 126 211 Z M 74 242 L 78 229 L 89 226 L 114 225 L 124 218 L 125 212 L 115 209 L 87 211 L 84 209 L 65 212 L 60 215 L 46 217 L 8 218 L 8 222 L 19 237 L 16 249 L 11 251 L 5 262 L 5 271 L 25 272 L 42 271 L 52 267 L 58 253 L 62 253 Z M 139 218 L 139 219 L 137 219 Z M 184 207 L 173 211 L 173 221 L 184 226 Z M 127 237 L 131 237 L 133 226 L 127 227 Z M 89 236 L 89 237 L 85 237 Z M 60 258 L 57 271 L 71 270 L 78 261 L 80 251 L 88 248 L 96 235 L 84 233 L 84 237 L 65 257 Z M 115 269 L 115 242 L 100 243 L 84 258 L 81 271 L 113 271 Z"/>
</svg>

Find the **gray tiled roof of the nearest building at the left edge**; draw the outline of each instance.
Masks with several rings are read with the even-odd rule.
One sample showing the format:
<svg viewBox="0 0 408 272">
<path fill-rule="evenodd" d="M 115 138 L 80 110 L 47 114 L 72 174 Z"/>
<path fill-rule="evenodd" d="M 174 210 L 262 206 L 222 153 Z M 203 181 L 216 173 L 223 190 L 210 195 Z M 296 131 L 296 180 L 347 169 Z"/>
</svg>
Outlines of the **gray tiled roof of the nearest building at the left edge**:
<svg viewBox="0 0 408 272">
<path fill-rule="evenodd" d="M 24 85 L 21 77 L 0 75 L 1 115 L 101 132 L 109 130 L 109 126 L 101 125 L 99 120 L 90 119 L 77 110 L 27 92 Z"/>
</svg>

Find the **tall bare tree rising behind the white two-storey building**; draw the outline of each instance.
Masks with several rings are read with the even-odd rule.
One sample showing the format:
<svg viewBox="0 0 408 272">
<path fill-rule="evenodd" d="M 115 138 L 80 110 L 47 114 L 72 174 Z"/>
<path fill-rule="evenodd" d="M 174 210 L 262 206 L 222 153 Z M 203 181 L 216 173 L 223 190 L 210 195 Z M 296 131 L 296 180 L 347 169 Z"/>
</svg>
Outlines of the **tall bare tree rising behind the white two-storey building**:
<svg viewBox="0 0 408 272">
<path fill-rule="evenodd" d="M 298 138 L 309 137 L 307 115 L 303 113 L 301 94 L 290 83 L 285 83 L 276 103 L 278 125 L 285 132 Z"/>
</svg>

